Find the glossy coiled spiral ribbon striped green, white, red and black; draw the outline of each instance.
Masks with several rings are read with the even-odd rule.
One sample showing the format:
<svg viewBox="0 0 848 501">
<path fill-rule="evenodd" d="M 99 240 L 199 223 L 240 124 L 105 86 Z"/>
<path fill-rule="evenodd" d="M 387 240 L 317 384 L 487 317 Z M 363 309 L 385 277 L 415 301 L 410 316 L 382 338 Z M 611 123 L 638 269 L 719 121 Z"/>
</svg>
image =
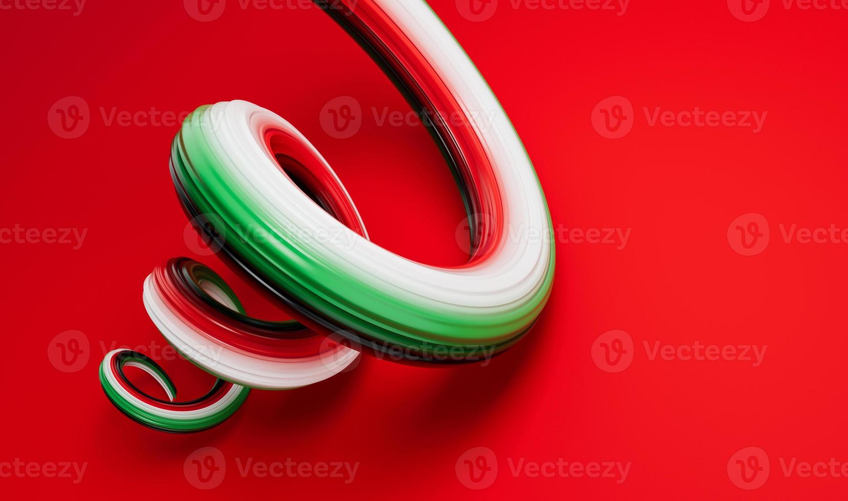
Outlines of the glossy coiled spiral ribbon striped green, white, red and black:
<svg viewBox="0 0 848 501">
<path fill-rule="evenodd" d="M 100 366 L 106 395 L 145 426 L 204 430 L 232 415 L 248 388 L 322 381 L 360 352 L 413 363 L 486 359 L 533 326 L 550 294 L 554 244 L 544 238 L 550 214 L 533 164 L 436 14 L 423 0 L 315 3 L 428 117 L 469 214 L 470 259 L 435 267 L 370 242 L 341 181 L 286 120 L 244 101 L 200 107 L 171 147 L 176 192 L 234 269 L 297 321 L 245 315 L 220 276 L 191 259 L 153 270 L 144 282 L 148 315 L 218 380 L 204 397 L 177 402 L 153 360 L 126 349 L 108 353 Z M 135 387 L 124 375 L 128 366 L 146 370 L 168 399 Z"/>
</svg>

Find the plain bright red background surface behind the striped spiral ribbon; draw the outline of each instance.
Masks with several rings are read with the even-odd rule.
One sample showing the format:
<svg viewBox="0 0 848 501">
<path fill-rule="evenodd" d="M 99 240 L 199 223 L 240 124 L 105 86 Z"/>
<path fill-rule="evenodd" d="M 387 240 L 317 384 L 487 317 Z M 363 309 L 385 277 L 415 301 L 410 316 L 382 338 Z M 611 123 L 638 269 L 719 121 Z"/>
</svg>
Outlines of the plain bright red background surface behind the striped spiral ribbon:
<svg viewBox="0 0 848 501">
<path fill-rule="evenodd" d="M 488 367 L 414 368 L 364 359 L 349 373 L 290 392 L 252 392 L 243 409 L 188 436 L 150 431 L 109 404 L 98 384 L 103 347 L 159 348 L 142 307 L 156 264 L 192 255 L 167 170 L 176 126 L 105 125 L 105 113 L 175 113 L 246 99 L 309 137 L 338 172 L 379 244 L 431 264 L 459 264 L 460 198 L 421 126 L 378 126 L 372 109 L 408 106 L 348 36 L 315 8 L 242 10 L 213 22 L 181 2 L 89 0 L 67 11 L 0 10 L 3 197 L 0 226 L 87 229 L 68 245 L 0 245 L 3 426 L 0 462 L 88 462 L 82 482 L 0 478 L 0 492 L 70 498 L 386 498 L 538 494 L 546 498 L 844 498 L 848 478 L 786 477 L 778 458 L 848 461 L 845 431 L 845 243 L 785 243 L 778 224 L 848 226 L 845 206 L 845 28 L 848 10 L 785 9 L 745 23 L 723 0 L 632 0 L 605 10 L 513 9 L 471 22 L 454 0 L 431 0 L 522 136 L 555 226 L 632 229 L 622 250 L 559 242 L 550 303 L 538 325 Z M 328 136 L 319 113 L 354 97 L 359 133 Z M 633 103 L 633 131 L 594 131 L 594 106 Z M 91 107 L 81 137 L 53 134 L 62 97 Z M 762 132 L 650 127 L 643 107 L 767 111 Z M 728 245 L 740 214 L 762 214 L 771 242 L 752 257 Z M 226 278 L 214 257 L 199 258 Z M 271 316 L 247 288 L 248 312 Z M 90 359 L 65 374 L 50 340 L 85 333 Z M 633 338 L 617 374 L 592 344 Z M 644 341 L 767 345 L 762 365 L 650 360 Z M 114 343 L 114 344 L 113 344 Z M 165 363 L 180 395 L 209 376 Z M 139 378 L 140 380 L 142 378 Z M 220 487 L 195 490 L 187 456 L 216 447 Z M 499 461 L 492 487 L 455 474 L 467 449 Z M 728 459 L 759 447 L 763 487 L 728 478 Z M 354 482 L 243 478 L 235 458 L 360 462 Z M 626 482 L 531 478 L 508 459 L 632 462 Z"/>
</svg>

